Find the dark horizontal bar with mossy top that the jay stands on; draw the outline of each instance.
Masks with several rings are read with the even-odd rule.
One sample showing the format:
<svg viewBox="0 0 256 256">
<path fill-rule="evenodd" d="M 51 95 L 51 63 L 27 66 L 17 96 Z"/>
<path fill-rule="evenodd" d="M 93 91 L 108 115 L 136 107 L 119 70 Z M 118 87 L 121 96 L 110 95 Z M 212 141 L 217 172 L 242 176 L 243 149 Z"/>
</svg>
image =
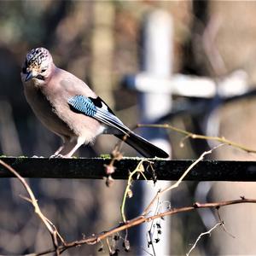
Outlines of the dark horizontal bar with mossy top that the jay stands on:
<svg viewBox="0 0 256 256">
<path fill-rule="evenodd" d="M 94 178 L 106 176 L 105 166 L 110 159 L 48 159 L 0 157 L 1 160 L 14 167 L 22 177 L 36 178 Z M 135 169 L 140 158 L 125 158 L 116 161 L 113 173 L 115 179 L 126 179 L 129 172 Z M 154 173 L 158 180 L 177 180 L 195 160 L 151 160 L 154 162 Z M 145 163 L 147 166 L 147 163 Z M 148 179 L 154 177 L 153 172 L 145 173 Z M 0 177 L 14 177 L 0 165 Z M 143 177 L 141 177 L 143 179 Z M 195 166 L 187 181 L 256 181 L 256 161 L 202 160 Z"/>
</svg>

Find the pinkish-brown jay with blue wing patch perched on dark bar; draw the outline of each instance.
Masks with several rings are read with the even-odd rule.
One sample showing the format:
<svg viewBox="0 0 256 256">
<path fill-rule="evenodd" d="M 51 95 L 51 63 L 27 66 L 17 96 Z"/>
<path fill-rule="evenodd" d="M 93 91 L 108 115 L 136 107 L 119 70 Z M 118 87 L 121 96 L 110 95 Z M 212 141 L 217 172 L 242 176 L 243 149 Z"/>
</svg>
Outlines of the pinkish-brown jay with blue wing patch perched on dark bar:
<svg viewBox="0 0 256 256">
<path fill-rule="evenodd" d="M 50 157 L 70 158 L 100 134 L 113 134 L 147 158 L 168 158 L 161 148 L 131 131 L 83 80 L 55 66 L 48 49 L 27 52 L 21 67 L 26 101 L 41 123 L 61 137 Z"/>
</svg>

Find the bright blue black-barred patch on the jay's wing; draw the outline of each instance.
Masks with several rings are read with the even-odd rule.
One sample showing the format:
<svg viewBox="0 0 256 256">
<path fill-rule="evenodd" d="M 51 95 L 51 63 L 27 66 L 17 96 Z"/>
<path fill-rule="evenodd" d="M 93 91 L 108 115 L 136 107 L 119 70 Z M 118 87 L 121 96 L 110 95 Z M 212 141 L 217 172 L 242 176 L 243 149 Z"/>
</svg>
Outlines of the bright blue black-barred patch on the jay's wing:
<svg viewBox="0 0 256 256">
<path fill-rule="evenodd" d="M 85 96 L 73 96 L 72 98 L 68 99 L 67 102 L 77 111 L 84 113 L 85 115 L 94 117 L 96 114 L 96 106 L 89 98 Z"/>
</svg>

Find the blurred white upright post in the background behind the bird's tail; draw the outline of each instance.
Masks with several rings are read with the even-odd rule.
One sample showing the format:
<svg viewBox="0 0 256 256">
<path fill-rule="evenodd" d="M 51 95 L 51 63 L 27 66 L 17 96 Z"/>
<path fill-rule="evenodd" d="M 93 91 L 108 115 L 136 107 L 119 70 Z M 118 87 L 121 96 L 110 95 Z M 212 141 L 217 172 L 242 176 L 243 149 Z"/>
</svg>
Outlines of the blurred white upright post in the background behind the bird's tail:
<svg viewBox="0 0 256 256">
<path fill-rule="evenodd" d="M 161 79 L 170 79 L 173 60 L 172 44 L 172 17 L 163 10 L 155 10 L 148 15 L 143 27 L 143 73 L 148 73 L 148 75 L 153 75 Z M 158 84 L 156 83 L 153 86 L 157 88 Z M 159 119 L 170 112 L 172 108 L 172 96 L 166 92 L 161 92 L 161 90 L 159 92 L 143 92 L 140 94 L 139 104 L 142 122 L 152 123 L 155 119 Z M 152 143 L 171 154 L 171 145 L 168 141 L 166 131 L 152 130 L 150 128 L 143 129 L 143 137 L 148 138 Z M 143 207 L 147 206 L 159 188 L 165 188 L 168 184 L 169 182 L 157 182 L 154 187 L 153 183 L 150 185 L 143 183 Z M 162 198 L 161 201 L 163 200 L 165 199 Z M 170 200 L 170 195 L 166 200 Z M 170 218 L 166 218 L 164 222 L 162 221 L 161 227 L 162 235 L 160 236 L 160 241 L 154 243 L 154 250 L 157 252 L 157 255 L 166 255 L 170 253 Z M 148 250 L 146 239 L 148 229 L 148 224 L 143 225 L 141 229 L 140 240 L 142 242 L 142 248 L 139 254 L 147 254 L 143 248 Z M 153 234 L 154 239 L 157 236 L 156 233 L 157 231 L 155 230 Z"/>
</svg>

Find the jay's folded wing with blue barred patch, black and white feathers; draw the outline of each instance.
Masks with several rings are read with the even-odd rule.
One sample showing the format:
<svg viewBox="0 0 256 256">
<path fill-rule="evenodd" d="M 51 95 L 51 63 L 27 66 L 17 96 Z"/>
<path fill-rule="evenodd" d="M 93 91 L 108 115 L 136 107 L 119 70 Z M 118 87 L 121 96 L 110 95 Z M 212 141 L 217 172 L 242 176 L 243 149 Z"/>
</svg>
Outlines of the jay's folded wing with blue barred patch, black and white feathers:
<svg viewBox="0 0 256 256">
<path fill-rule="evenodd" d="M 100 97 L 91 98 L 77 95 L 67 100 L 71 109 L 76 113 L 82 113 L 90 116 L 105 125 L 109 125 L 121 131 L 124 134 L 129 133 L 127 128 L 112 112 L 108 105 Z"/>
</svg>

